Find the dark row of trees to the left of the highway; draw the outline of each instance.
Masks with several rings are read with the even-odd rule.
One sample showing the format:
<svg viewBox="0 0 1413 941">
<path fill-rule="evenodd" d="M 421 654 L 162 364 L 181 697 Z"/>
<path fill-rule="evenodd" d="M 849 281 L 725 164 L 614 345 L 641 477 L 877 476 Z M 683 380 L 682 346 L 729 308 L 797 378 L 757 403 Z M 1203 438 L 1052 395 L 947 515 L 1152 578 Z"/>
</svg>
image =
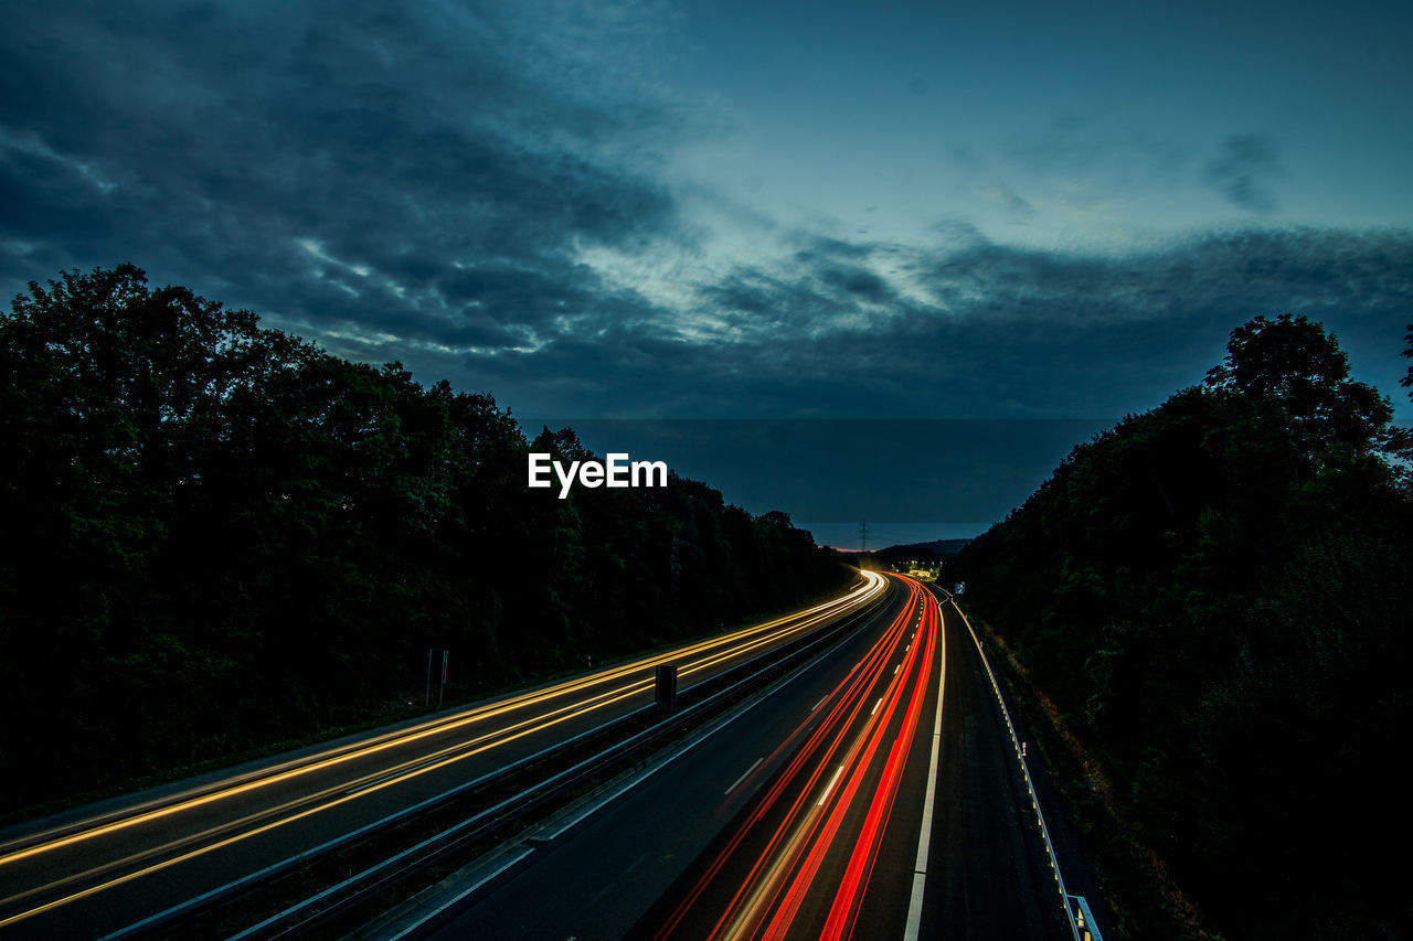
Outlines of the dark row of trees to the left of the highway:
<svg viewBox="0 0 1413 941">
<path fill-rule="evenodd" d="M 526 486 L 485 394 L 131 266 L 0 318 L 0 803 L 14 811 L 777 612 L 849 576 L 704 483 Z M 572 431 L 534 451 L 582 458 Z"/>
</svg>

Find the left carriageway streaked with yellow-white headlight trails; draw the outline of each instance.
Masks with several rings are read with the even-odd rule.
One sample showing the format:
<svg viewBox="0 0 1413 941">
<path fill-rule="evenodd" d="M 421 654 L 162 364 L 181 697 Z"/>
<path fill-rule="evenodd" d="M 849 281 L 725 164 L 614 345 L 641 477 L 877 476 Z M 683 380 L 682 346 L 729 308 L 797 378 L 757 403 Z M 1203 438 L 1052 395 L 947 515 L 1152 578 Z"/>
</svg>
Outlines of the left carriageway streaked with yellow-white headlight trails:
<svg viewBox="0 0 1413 941">
<path fill-rule="evenodd" d="M 880 600 L 865 574 L 828 603 L 452 711 L 0 832 L 0 938 L 93 937 L 280 863 Z"/>
</svg>

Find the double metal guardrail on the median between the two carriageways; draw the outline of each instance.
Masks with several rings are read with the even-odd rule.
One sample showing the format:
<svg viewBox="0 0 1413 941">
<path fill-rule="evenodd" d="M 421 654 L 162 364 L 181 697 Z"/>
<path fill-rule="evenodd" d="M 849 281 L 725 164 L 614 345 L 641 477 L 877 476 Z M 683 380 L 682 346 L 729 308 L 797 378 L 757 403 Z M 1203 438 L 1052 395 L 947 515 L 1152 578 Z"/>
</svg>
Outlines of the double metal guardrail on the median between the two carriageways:
<svg viewBox="0 0 1413 941">
<path fill-rule="evenodd" d="M 798 661 L 807 651 L 812 650 L 821 643 L 838 637 L 846 630 L 855 629 L 865 617 L 872 616 L 873 610 L 882 603 L 887 596 L 887 592 L 880 592 L 877 599 L 866 603 L 856 612 L 841 617 L 836 623 L 825 627 L 820 632 L 805 634 L 804 637 L 797 637 L 790 643 L 777 647 L 776 650 L 766 651 L 757 657 L 753 657 L 742 664 L 731 667 L 714 677 L 709 677 L 692 687 L 687 688 L 678 694 L 678 704 L 691 702 L 680 708 L 674 715 L 664 718 L 649 729 L 643 732 L 629 735 L 626 739 L 620 739 L 615 745 L 608 746 L 602 752 L 589 759 L 585 759 L 572 767 L 560 771 L 548 779 L 544 779 L 512 798 L 500 801 L 493 807 L 489 807 L 473 817 L 462 821 L 456 827 L 442 831 L 435 836 L 431 836 L 413 848 L 408 848 L 389 859 L 332 886 L 317 896 L 305 899 L 304 901 L 285 909 L 284 911 L 266 918 L 264 921 L 246 928 L 236 938 L 285 938 L 295 937 L 317 924 L 321 924 L 336 914 L 353 907 L 363 899 L 376 894 L 387 889 L 403 879 L 407 879 L 418 869 L 422 869 L 437 859 L 455 852 L 455 849 L 483 839 L 487 832 L 495 832 L 499 828 L 507 827 L 517 818 L 521 818 L 548 800 L 552 800 L 557 794 L 575 787 L 588 777 L 601 773 L 605 767 L 625 762 L 632 754 L 656 743 L 663 736 L 677 730 L 678 728 L 688 725 L 702 716 L 709 715 L 714 709 L 723 708 L 725 704 L 731 701 L 732 697 L 743 695 L 755 684 L 763 684 L 770 675 L 779 673 L 780 670 L 788 670 L 788 664 Z M 762 663 L 767 661 L 762 667 Z M 749 670 L 755 668 L 755 673 L 739 678 L 732 682 L 733 677 L 740 677 Z M 723 687 L 716 692 L 708 694 L 714 687 Z M 572 753 L 575 749 L 584 747 L 595 739 L 602 738 L 616 738 L 623 735 L 627 729 L 634 725 L 640 725 L 644 721 L 650 721 L 654 712 L 660 712 L 656 704 L 644 705 L 627 715 L 622 715 L 616 719 L 610 719 L 593 729 L 581 732 L 564 742 L 551 745 L 540 752 L 528 754 L 526 757 L 517 759 L 510 764 L 500 769 L 482 774 L 471 781 L 459 784 L 448 791 L 430 797 L 424 801 L 406 807 L 394 814 L 390 814 L 382 819 L 366 824 L 355 831 L 336 836 L 311 849 L 298 852 L 287 859 L 277 863 L 271 863 L 257 872 L 249 873 L 240 879 L 229 882 L 223 886 L 212 889 L 211 892 L 202 893 L 194 899 L 188 899 L 179 904 L 175 904 L 164 911 L 148 916 L 141 921 L 136 921 L 126 925 L 114 933 L 102 935 L 103 941 L 127 941 L 130 938 L 138 938 L 151 934 L 162 927 L 172 924 L 174 921 L 194 916 L 195 913 L 208 909 L 218 901 L 230 899 L 240 893 L 256 889 L 263 883 L 268 883 L 298 866 L 307 866 L 314 860 L 324 858 L 338 849 L 357 844 L 359 841 L 372 839 L 380 832 L 389 831 L 400 824 L 406 824 L 417 817 L 430 814 L 441 807 L 451 804 L 452 801 L 465 797 L 476 790 L 489 790 L 496 786 L 504 784 L 513 780 L 517 774 L 527 771 L 530 767 L 554 760 L 555 757 Z M 326 903 L 322 904 L 321 903 Z"/>
</svg>

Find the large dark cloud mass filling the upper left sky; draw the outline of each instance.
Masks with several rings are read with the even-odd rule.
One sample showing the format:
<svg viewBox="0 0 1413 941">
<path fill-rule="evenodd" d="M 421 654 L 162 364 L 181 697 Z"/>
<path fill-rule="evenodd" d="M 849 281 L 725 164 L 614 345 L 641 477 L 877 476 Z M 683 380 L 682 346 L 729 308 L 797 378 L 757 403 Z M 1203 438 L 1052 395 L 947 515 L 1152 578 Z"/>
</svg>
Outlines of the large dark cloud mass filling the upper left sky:
<svg viewBox="0 0 1413 941">
<path fill-rule="evenodd" d="M 516 6 L 21 4 L 4 287 L 133 260 L 319 338 L 478 348 L 598 309 L 578 251 L 685 237 L 677 117 Z"/>
</svg>

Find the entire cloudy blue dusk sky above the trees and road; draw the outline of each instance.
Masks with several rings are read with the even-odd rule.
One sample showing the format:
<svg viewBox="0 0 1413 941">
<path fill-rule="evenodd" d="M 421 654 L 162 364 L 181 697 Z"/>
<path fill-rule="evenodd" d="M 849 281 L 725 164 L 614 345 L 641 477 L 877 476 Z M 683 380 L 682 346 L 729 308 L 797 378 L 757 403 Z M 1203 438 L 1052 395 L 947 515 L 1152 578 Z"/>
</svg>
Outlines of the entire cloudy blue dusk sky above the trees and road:
<svg viewBox="0 0 1413 941">
<path fill-rule="evenodd" d="M 131 261 L 516 415 L 675 422 L 644 458 L 821 541 L 971 534 L 1255 315 L 1413 417 L 1410 38 L 1371 1 L 18 0 L 0 291 Z M 882 466 L 668 446 L 704 420 Z"/>
</svg>

